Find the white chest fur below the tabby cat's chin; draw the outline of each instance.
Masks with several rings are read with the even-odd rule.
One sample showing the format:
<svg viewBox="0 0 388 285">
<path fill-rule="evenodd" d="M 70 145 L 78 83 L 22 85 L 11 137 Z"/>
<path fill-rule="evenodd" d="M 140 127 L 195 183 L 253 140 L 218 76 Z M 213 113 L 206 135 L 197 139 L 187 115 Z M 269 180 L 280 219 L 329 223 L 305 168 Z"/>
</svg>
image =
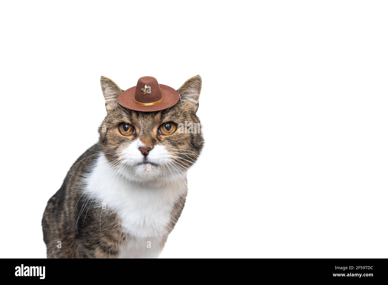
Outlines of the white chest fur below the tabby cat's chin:
<svg viewBox="0 0 388 285">
<path fill-rule="evenodd" d="M 120 257 L 157 257 L 168 233 L 174 204 L 187 191 L 184 180 L 157 189 L 135 185 L 113 170 L 105 156 L 100 155 L 86 182 L 83 195 L 97 201 L 96 205 L 106 206 L 106 209 L 101 207 L 102 211 L 117 213 L 121 227 L 133 237 L 123 247 Z"/>
</svg>

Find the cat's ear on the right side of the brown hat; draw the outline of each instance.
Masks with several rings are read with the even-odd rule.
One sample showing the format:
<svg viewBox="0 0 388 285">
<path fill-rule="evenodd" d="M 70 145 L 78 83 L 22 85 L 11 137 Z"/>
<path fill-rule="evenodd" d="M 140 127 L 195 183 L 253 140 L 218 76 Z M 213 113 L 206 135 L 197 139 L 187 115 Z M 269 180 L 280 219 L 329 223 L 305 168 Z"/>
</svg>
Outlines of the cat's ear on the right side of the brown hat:
<svg viewBox="0 0 388 285">
<path fill-rule="evenodd" d="M 186 82 L 180 86 L 178 93 L 183 105 L 193 113 L 198 110 L 199 94 L 201 94 L 202 79 L 201 76 L 196 75 L 187 79 Z"/>
</svg>

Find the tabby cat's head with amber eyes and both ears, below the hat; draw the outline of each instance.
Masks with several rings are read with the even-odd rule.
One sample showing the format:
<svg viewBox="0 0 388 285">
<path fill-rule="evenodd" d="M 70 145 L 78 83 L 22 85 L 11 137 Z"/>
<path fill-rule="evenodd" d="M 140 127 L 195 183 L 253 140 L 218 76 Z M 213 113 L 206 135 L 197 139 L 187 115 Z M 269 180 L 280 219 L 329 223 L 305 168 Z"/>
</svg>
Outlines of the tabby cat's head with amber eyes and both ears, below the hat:
<svg viewBox="0 0 388 285">
<path fill-rule="evenodd" d="M 99 146 L 117 172 L 137 183 L 185 177 L 203 147 L 196 115 L 201 77 L 188 79 L 177 91 L 180 100 L 166 110 L 140 112 L 117 102 L 123 90 L 101 77 L 107 115 L 99 127 Z"/>
</svg>

